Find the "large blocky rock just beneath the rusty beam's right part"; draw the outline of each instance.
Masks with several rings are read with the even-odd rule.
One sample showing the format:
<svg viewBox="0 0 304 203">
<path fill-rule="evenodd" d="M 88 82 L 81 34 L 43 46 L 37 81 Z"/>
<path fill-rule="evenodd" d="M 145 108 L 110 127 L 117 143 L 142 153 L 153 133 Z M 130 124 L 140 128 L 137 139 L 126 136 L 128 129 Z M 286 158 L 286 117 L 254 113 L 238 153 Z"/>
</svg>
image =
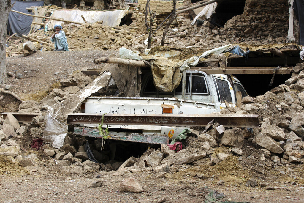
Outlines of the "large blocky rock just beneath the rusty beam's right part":
<svg viewBox="0 0 304 203">
<path fill-rule="evenodd" d="M 244 135 L 243 131 L 240 128 L 232 128 L 224 131 L 224 134 L 221 138 L 221 143 L 223 145 L 231 147 L 243 147 Z"/>
</svg>

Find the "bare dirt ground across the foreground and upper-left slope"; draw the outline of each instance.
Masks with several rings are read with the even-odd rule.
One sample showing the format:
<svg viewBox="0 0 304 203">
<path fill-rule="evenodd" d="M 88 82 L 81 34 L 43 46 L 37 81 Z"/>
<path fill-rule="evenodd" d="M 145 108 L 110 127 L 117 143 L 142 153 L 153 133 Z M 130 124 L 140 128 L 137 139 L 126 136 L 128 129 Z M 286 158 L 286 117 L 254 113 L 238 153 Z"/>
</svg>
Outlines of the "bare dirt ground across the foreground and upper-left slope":
<svg viewBox="0 0 304 203">
<path fill-rule="evenodd" d="M 43 97 L 55 83 L 81 68 L 100 67 L 93 60 L 112 53 L 97 50 L 45 51 L 28 57 L 7 58 L 7 72 L 19 72 L 25 76 L 14 81 L 9 79 L 13 86 L 11 91 L 24 100 L 39 100 L 39 93 Z M 55 72 L 59 74 L 54 75 Z M 5 96 L 0 103 L 0 111 L 17 111 L 19 103 L 13 97 Z M 30 150 L 31 140 L 30 135 L 17 139 L 22 143 L 23 153 L 35 153 L 39 158 L 32 169 L 0 157 L 1 202 L 205 202 L 210 190 L 223 193 L 225 197 L 221 201 L 304 202 L 304 166 L 265 164 L 261 161 L 261 151 L 252 143 L 244 143 L 242 156 L 235 156 L 229 148 L 222 146 L 216 150 L 232 156 L 219 164 L 172 165 L 165 177 L 156 178 L 153 171 L 113 175 L 116 171 L 61 167 L 42 150 Z M 187 148 L 190 150 L 192 147 L 199 147 L 199 142 L 193 141 Z M 120 192 L 119 183 L 133 176 L 139 180 L 143 192 Z M 246 187 L 250 178 L 259 184 L 268 183 L 273 190 L 261 186 Z M 91 187 L 92 182 L 98 180 L 103 181 L 102 187 Z"/>
</svg>

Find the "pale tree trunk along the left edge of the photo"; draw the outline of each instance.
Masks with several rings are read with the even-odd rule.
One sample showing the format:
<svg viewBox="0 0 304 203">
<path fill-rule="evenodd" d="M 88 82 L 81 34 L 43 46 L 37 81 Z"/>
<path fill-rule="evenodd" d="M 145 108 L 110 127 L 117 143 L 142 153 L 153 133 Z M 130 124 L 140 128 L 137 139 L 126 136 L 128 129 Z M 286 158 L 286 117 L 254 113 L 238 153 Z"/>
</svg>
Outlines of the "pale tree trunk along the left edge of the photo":
<svg viewBox="0 0 304 203">
<path fill-rule="evenodd" d="M 6 27 L 9 12 L 11 10 L 11 0 L 0 0 L 0 84 L 6 83 L 6 66 L 5 66 L 5 42 L 6 42 Z"/>
</svg>

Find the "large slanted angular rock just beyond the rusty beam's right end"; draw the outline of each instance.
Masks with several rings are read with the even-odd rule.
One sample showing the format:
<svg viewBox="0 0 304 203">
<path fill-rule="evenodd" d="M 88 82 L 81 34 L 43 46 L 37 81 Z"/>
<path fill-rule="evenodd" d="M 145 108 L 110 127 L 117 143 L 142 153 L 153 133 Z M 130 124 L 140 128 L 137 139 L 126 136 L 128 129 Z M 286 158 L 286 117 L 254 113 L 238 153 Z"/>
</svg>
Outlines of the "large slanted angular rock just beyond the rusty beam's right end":
<svg viewBox="0 0 304 203">
<path fill-rule="evenodd" d="M 255 142 L 261 147 L 269 149 L 273 153 L 280 154 L 284 152 L 284 150 L 278 145 L 277 142 L 275 142 L 275 140 L 262 133 L 257 133 L 257 136 L 255 137 Z"/>
</svg>

